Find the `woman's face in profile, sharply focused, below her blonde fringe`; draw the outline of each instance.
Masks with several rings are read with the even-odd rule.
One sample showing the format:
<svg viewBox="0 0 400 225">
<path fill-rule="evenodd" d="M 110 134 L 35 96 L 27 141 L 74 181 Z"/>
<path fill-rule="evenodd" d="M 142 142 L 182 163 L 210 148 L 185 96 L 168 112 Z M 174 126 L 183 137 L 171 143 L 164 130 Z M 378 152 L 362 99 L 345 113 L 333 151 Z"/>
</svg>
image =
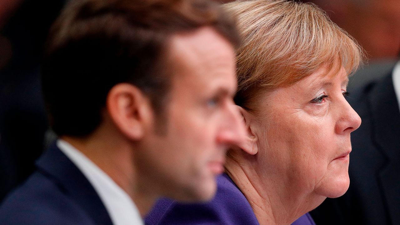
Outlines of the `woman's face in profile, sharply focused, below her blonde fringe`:
<svg viewBox="0 0 400 225">
<path fill-rule="evenodd" d="M 286 189 L 326 197 L 348 189 L 350 133 L 361 119 L 345 99 L 347 83 L 344 68 L 331 76 L 322 67 L 262 96 L 259 151 Z"/>
</svg>

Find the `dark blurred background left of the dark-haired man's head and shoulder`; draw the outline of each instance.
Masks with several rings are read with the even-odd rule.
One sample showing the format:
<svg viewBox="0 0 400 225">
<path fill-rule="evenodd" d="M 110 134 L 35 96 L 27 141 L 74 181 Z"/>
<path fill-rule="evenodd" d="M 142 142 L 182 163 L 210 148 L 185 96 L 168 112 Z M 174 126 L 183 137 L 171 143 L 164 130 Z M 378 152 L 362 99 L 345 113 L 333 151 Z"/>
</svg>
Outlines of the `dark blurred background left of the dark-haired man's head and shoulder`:
<svg viewBox="0 0 400 225">
<path fill-rule="evenodd" d="M 0 0 L 0 200 L 34 169 L 48 129 L 40 88 L 45 37 L 63 0 Z"/>
</svg>

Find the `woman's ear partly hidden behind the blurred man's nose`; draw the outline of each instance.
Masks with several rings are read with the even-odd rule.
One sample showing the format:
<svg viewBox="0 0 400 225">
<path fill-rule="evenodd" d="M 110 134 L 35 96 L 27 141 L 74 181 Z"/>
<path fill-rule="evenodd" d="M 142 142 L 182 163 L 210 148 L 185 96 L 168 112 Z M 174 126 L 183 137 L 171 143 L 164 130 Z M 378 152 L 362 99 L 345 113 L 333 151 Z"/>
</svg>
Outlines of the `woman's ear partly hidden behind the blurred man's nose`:
<svg viewBox="0 0 400 225">
<path fill-rule="evenodd" d="M 254 134 L 254 120 L 253 116 L 246 111 L 244 108 L 240 106 L 236 106 L 240 112 L 240 115 L 242 116 L 243 123 L 245 125 L 246 129 L 246 137 L 244 138 L 244 141 L 242 142 L 242 145 L 239 147 L 246 153 L 250 155 L 255 155 L 258 153 L 258 145 L 257 141 L 258 138 Z"/>
</svg>

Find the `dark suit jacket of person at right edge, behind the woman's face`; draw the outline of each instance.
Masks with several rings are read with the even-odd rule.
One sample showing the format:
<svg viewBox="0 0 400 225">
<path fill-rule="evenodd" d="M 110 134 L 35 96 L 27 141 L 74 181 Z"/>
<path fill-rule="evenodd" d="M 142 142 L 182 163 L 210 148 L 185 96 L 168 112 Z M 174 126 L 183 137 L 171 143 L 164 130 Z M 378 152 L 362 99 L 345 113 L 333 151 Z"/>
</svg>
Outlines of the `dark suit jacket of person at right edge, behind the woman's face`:
<svg viewBox="0 0 400 225">
<path fill-rule="evenodd" d="M 317 224 L 400 224 L 400 111 L 392 74 L 370 82 L 349 102 L 362 119 L 352 132 L 350 187 L 312 211 Z M 351 98 L 350 98 L 351 97 Z"/>
</svg>

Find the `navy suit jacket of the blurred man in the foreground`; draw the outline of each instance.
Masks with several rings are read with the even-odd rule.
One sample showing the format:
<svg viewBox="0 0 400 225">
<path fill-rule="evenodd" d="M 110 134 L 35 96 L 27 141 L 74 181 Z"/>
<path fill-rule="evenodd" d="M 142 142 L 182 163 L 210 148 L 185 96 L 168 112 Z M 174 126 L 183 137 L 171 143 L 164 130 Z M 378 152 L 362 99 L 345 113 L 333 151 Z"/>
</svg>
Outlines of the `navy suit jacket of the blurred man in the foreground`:
<svg viewBox="0 0 400 225">
<path fill-rule="evenodd" d="M 6 197 L 2 225 L 112 225 L 106 208 L 80 170 L 53 145 L 37 170 Z"/>
</svg>

